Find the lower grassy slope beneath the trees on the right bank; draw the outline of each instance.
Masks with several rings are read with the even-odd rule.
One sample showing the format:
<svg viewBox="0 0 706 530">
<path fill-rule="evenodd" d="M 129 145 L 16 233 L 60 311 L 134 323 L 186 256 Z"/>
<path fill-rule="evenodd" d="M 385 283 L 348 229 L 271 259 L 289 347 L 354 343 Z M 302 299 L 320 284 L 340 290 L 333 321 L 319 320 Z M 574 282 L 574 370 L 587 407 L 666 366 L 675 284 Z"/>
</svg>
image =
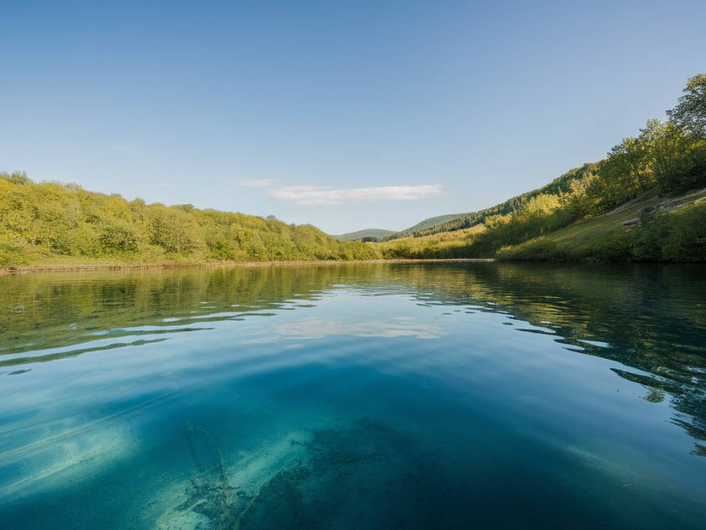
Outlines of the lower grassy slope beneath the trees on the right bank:
<svg viewBox="0 0 706 530">
<path fill-rule="evenodd" d="M 706 189 L 650 193 L 602 215 L 502 245 L 505 225 L 405 237 L 377 245 L 388 259 L 495 257 L 505 261 L 706 261 Z"/>
</svg>

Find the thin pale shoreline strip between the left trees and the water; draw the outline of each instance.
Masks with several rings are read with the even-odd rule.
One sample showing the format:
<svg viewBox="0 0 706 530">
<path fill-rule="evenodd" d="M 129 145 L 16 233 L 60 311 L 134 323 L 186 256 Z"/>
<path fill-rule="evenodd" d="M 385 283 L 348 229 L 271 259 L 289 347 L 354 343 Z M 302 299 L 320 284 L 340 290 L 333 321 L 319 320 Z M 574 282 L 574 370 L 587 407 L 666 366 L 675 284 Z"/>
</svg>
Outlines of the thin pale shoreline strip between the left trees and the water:
<svg viewBox="0 0 706 530">
<path fill-rule="evenodd" d="M 313 259 L 304 261 L 212 261 L 208 263 L 96 263 L 96 264 L 47 264 L 0 268 L 0 276 L 37 272 L 125 271 L 138 269 L 216 269 L 251 266 L 342 265 L 373 263 L 491 263 L 495 258 L 450 259 Z"/>
</svg>

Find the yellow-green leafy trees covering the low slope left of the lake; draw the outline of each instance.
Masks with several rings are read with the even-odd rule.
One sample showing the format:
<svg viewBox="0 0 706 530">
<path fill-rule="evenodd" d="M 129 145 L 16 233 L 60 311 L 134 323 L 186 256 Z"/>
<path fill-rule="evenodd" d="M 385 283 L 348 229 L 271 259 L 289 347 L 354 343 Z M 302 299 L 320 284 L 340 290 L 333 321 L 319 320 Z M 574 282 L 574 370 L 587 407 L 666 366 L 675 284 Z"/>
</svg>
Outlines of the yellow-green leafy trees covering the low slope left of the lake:
<svg viewBox="0 0 706 530">
<path fill-rule="evenodd" d="M 0 174 L 0 266 L 82 261 L 371 259 L 371 245 L 340 242 L 311 225 L 274 218 L 145 204 Z"/>
</svg>

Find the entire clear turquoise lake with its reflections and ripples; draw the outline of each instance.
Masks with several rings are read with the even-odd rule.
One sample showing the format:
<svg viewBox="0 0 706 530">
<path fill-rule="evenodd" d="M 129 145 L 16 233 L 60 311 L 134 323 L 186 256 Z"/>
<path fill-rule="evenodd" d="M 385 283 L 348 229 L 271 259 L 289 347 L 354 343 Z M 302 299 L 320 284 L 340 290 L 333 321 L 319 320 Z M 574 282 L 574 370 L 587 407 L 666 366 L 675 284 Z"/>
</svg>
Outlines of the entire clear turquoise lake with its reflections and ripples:
<svg viewBox="0 0 706 530">
<path fill-rule="evenodd" d="M 706 270 L 0 277 L 0 527 L 704 528 Z"/>
</svg>

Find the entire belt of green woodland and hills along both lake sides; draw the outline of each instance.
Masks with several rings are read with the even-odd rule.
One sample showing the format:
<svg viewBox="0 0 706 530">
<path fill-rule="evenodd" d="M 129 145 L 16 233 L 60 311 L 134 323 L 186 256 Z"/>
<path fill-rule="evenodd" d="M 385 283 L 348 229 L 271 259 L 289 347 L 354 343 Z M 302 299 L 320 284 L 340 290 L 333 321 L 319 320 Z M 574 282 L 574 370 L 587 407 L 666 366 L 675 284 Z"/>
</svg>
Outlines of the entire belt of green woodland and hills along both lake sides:
<svg viewBox="0 0 706 530">
<path fill-rule="evenodd" d="M 699 74 L 666 121 L 649 120 L 604 160 L 381 242 L 340 241 L 273 217 L 145 204 L 0 173 L 0 268 L 474 257 L 706 261 L 705 187 L 706 74 Z"/>
</svg>

